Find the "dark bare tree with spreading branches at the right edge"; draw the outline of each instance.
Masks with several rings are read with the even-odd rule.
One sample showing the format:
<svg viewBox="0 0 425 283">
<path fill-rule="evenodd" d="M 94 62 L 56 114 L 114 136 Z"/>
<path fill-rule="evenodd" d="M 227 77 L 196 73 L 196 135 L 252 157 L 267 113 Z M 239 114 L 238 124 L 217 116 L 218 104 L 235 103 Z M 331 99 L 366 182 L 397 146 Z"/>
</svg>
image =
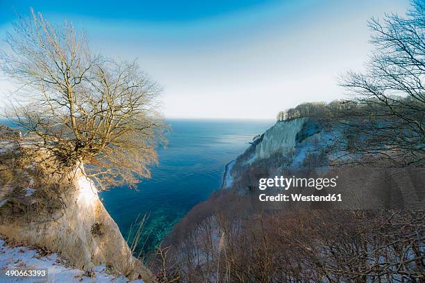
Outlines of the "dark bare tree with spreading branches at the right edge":
<svg viewBox="0 0 425 283">
<path fill-rule="evenodd" d="M 369 28 L 374 51 L 366 72 L 348 72 L 340 83 L 355 95 L 356 106 L 338 122 L 361 163 L 422 167 L 425 3 L 412 1 L 406 17 L 372 18 Z"/>
</svg>

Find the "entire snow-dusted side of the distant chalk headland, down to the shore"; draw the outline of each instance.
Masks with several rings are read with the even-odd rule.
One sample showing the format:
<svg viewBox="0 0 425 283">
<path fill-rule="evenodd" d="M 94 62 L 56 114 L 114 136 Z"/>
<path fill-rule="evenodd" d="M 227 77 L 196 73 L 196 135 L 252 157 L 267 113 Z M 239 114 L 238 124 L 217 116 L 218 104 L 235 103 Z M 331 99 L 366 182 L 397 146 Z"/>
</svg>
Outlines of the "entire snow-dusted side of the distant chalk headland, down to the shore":
<svg viewBox="0 0 425 283">
<path fill-rule="evenodd" d="M 281 168 L 302 168 L 307 158 L 323 153 L 326 135 L 328 133 L 309 118 L 276 122 L 228 165 L 222 188 L 244 191 L 257 181 L 247 176 L 252 175 L 251 171 L 267 177 L 279 175 Z M 327 160 L 322 158 L 321 162 L 325 164 Z M 232 181 L 227 181 L 229 179 Z M 251 184 L 247 184 L 247 180 Z"/>
</svg>

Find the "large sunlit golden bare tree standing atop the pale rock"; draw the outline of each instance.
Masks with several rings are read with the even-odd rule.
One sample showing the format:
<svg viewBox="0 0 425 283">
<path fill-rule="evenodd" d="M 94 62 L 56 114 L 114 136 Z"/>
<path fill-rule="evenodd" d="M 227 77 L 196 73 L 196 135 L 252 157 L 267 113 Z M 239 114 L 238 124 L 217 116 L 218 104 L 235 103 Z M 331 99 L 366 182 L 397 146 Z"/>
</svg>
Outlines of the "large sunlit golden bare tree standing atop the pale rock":
<svg viewBox="0 0 425 283">
<path fill-rule="evenodd" d="M 28 152 L 46 152 L 55 172 L 88 164 L 102 188 L 149 177 L 165 141 L 158 84 L 135 62 L 93 54 L 72 24 L 31 13 L 13 24 L 0 53 L 3 72 L 19 86 L 7 115 L 32 140 Z"/>
</svg>

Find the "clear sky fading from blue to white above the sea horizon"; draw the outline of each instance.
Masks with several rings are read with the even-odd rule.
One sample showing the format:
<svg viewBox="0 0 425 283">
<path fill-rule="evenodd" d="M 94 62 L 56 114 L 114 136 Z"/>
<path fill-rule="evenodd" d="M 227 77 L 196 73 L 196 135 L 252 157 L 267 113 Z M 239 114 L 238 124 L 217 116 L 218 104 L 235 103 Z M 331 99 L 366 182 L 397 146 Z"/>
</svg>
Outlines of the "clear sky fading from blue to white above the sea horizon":
<svg viewBox="0 0 425 283">
<path fill-rule="evenodd" d="M 88 33 L 94 51 L 137 58 L 163 86 L 160 111 L 167 118 L 274 119 L 302 102 L 346 97 L 338 76 L 363 70 L 372 49 L 367 19 L 402 15 L 408 6 L 408 0 L 0 0 L 0 38 L 32 7 L 50 22 L 67 20 Z M 0 106 L 13 88 L 0 77 Z"/>
</svg>

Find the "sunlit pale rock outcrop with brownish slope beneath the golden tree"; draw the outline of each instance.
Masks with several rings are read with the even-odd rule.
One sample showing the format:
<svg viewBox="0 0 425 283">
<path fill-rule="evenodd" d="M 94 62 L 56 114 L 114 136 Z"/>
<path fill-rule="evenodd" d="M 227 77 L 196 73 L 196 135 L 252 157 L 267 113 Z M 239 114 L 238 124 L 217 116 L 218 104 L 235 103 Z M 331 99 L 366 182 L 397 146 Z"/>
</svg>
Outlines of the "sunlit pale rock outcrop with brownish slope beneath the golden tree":
<svg viewBox="0 0 425 283">
<path fill-rule="evenodd" d="M 76 268 L 90 270 L 106 264 L 131 279 L 155 281 L 151 272 L 133 257 L 82 166 L 66 176 L 51 179 L 50 188 L 40 178 L 31 176 L 33 172 L 18 171 L 23 185 L 10 188 L 10 184 L 0 182 L 8 191 L 0 195 L 4 202 L 0 207 L 0 234 L 57 252 Z M 22 190 L 26 184 L 31 186 L 31 195 Z M 40 208 L 42 202 L 53 208 Z"/>
</svg>

